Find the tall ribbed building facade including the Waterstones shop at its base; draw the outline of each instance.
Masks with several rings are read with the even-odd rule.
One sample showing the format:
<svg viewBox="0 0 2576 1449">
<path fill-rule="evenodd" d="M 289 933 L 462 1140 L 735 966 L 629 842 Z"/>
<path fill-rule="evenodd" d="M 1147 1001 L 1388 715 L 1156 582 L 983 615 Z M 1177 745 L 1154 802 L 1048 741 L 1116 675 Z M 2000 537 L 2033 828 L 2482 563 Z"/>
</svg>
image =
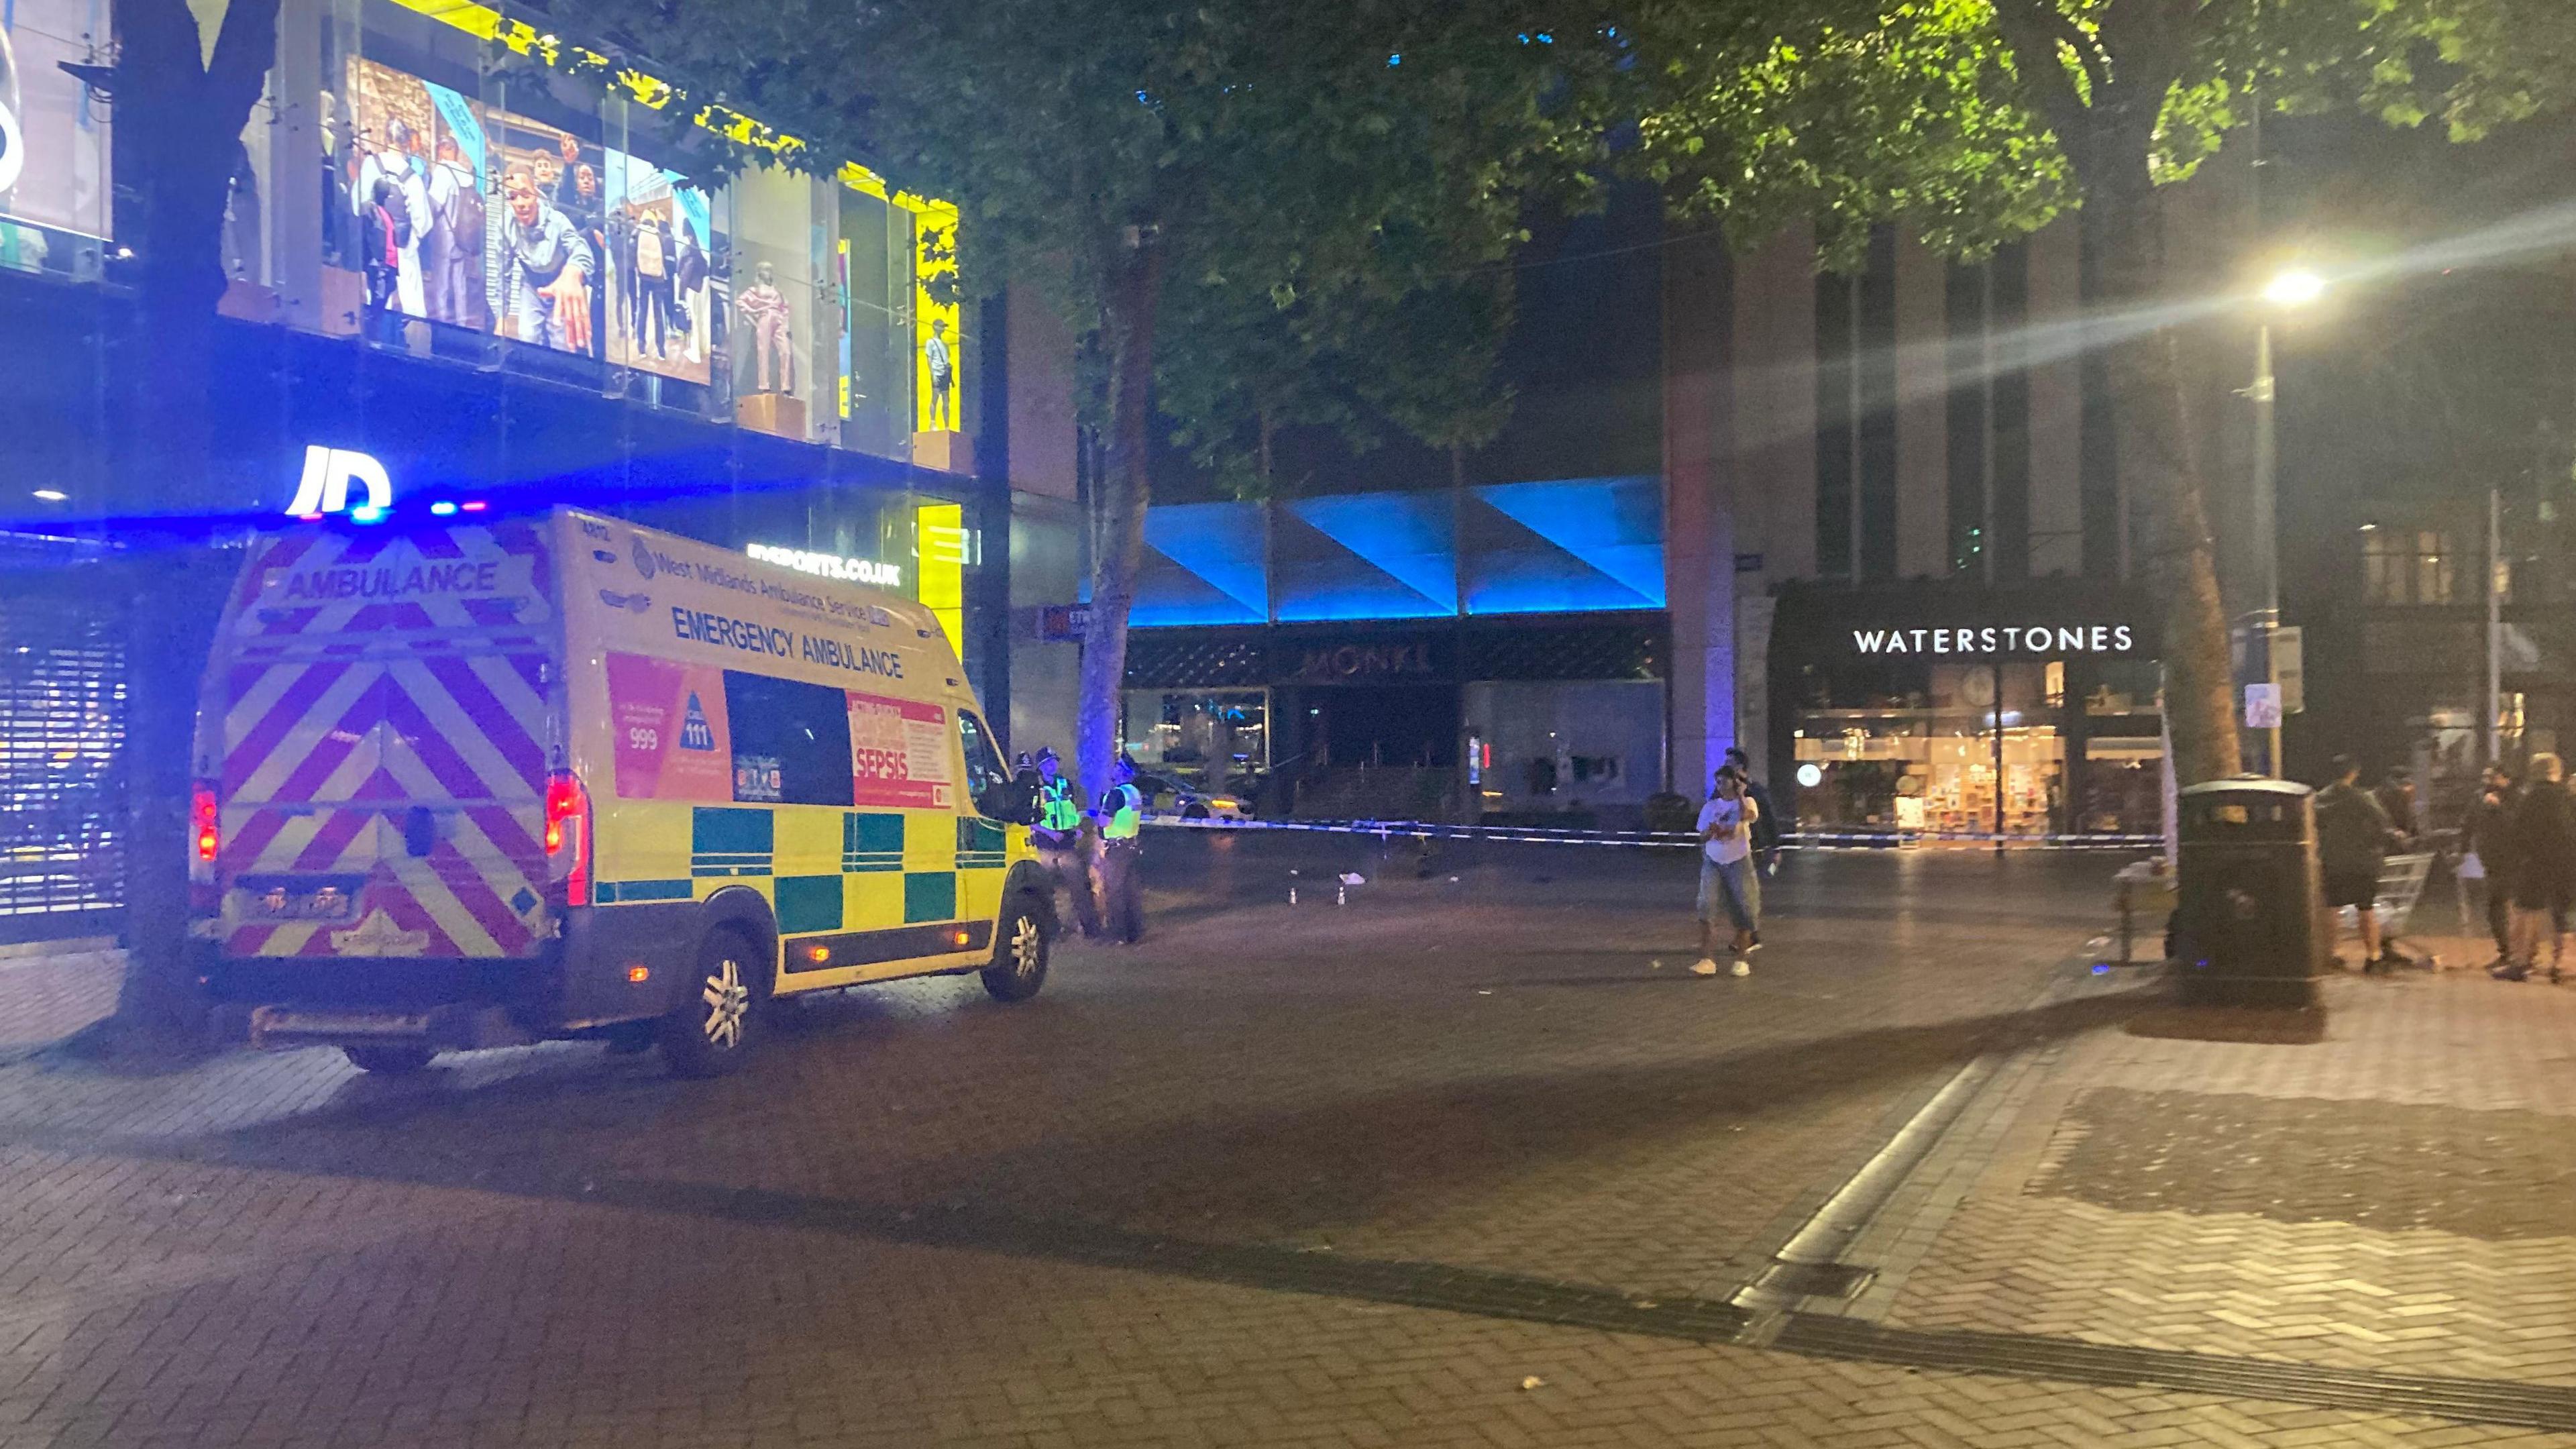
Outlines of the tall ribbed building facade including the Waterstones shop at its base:
<svg viewBox="0 0 2576 1449">
<path fill-rule="evenodd" d="M 1824 830 L 2156 830 L 2133 588 L 2074 224 L 1958 263 L 1880 229 L 1667 258 L 1674 789 L 1744 748 Z"/>
</svg>

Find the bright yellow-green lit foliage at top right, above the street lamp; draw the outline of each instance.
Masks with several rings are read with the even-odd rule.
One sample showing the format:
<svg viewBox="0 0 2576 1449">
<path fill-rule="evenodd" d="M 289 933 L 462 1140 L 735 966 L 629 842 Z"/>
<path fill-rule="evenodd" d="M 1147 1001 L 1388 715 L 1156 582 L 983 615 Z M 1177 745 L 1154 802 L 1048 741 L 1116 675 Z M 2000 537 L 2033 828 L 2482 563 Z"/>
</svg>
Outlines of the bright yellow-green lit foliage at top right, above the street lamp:
<svg viewBox="0 0 2576 1449">
<path fill-rule="evenodd" d="M 2576 95 L 2576 5 L 2555 0 L 1669 3 L 1638 44 L 1641 157 L 1674 206 L 1739 240 L 1814 219 L 1837 263 L 1880 222 L 1981 255 L 2074 209 L 2081 111 L 2133 70 L 2164 80 L 2130 116 L 2156 183 L 2190 178 L 2257 95 L 2452 139 Z"/>
</svg>

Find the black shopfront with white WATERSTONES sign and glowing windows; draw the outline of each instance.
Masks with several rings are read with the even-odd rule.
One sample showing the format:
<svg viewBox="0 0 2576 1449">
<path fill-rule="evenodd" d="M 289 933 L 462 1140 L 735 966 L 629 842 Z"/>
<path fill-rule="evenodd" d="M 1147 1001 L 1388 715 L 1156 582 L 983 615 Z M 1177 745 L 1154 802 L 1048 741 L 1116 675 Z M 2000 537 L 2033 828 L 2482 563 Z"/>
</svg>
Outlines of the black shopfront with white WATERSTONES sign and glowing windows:
<svg viewBox="0 0 2576 1449">
<path fill-rule="evenodd" d="M 1770 730 L 1811 830 L 2161 828 L 2156 632 L 2128 590 L 1785 590 Z"/>
</svg>

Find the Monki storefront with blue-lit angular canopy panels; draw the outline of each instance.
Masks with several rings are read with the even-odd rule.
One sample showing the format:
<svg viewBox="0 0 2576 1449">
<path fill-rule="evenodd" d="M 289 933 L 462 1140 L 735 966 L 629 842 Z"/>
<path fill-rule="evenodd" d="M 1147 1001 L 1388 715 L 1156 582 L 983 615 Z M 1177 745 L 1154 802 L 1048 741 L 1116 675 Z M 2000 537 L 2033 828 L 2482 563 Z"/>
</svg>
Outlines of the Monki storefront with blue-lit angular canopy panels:
<svg viewBox="0 0 2576 1449">
<path fill-rule="evenodd" d="M 1273 812 L 1633 822 L 1662 554 L 1656 477 L 1154 508 L 1123 740 Z"/>
</svg>

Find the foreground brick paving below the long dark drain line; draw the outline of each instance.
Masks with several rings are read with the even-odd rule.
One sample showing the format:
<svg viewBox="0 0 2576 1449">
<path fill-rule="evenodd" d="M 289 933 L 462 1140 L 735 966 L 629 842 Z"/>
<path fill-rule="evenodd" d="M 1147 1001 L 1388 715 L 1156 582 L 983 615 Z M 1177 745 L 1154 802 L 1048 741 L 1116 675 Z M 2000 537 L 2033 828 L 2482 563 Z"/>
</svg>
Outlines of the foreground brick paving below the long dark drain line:
<svg viewBox="0 0 2576 1449">
<path fill-rule="evenodd" d="M 0 1444 L 2553 1441 L 188 1163 L 98 1199 L 147 1248 L 0 1318 Z"/>
</svg>

